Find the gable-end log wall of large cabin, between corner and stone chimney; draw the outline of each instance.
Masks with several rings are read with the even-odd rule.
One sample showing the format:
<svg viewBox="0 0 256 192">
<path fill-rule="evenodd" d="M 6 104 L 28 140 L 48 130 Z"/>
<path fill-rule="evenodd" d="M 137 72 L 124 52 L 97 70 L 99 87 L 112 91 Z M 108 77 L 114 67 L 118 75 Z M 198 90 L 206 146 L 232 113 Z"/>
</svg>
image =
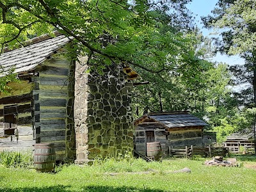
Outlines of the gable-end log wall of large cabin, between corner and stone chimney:
<svg viewBox="0 0 256 192">
<path fill-rule="evenodd" d="M 32 93 L 36 143 L 54 143 L 57 161 L 74 159 L 74 63 L 58 53 L 36 70 Z"/>
</svg>

